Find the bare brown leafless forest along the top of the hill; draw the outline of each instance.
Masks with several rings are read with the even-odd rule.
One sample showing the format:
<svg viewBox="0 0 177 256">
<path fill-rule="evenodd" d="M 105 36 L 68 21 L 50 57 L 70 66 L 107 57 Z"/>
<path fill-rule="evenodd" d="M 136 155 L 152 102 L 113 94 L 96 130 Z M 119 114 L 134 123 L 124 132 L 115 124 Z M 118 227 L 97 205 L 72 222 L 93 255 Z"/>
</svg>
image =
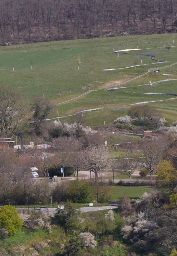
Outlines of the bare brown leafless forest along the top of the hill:
<svg viewBox="0 0 177 256">
<path fill-rule="evenodd" d="M 176 28 L 175 0 L 0 0 L 1 44 Z"/>
</svg>

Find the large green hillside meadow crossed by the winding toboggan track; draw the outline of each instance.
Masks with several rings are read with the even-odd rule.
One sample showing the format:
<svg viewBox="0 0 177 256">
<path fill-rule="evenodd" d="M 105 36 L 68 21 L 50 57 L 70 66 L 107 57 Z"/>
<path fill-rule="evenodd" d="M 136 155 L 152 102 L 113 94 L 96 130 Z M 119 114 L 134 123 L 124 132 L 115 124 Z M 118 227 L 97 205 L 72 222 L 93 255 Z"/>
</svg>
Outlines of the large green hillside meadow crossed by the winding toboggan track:
<svg viewBox="0 0 177 256">
<path fill-rule="evenodd" d="M 174 39 L 174 43 L 173 43 Z M 87 123 L 92 126 L 109 124 L 118 116 L 125 115 L 130 104 L 143 101 L 167 100 L 174 96 L 146 95 L 143 92 L 167 92 L 176 93 L 176 81 L 158 83 L 152 86 L 144 84 L 161 79 L 169 79 L 162 73 L 177 74 L 177 65 L 163 69 L 159 73 L 149 73 L 135 79 L 124 86 L 131 88 L 120 89 L 113 92 L 105 91 L 108 86 L 117 86 L 123 81 L 135 78 L 148 71 L 152 67 L 166 67 L 176 62 L 177 47 L 169 51 L 158 48 L 165 45 L 177 45 L 174 34 L 155 34 L 144 36 L 127 36 L 97 38 L 89 40 L 57 41 L 50 43 L 33 43 L 0 47 L 0 76 L 1 84 L 12 88 L 24 97 L 25 103 L 29 103 L 33 95 L 49 98 L 53 103 L 61 103 L 72 99 L 91 89 L 103 89 L 92 91 L 89 94 L 71 102 L 58 105 L 50 114 L 50 117 L 75 114 L 78 110 L 92 109 L 103 106 L 103 111 L 96 110 L 86 115 Z M 166 63 L 155 63 L 149 56 L 128 55 L 113 53 L 120 49 L 154 48 L 139 51 L 131 51 L 131 54 L 154 54 L 156 59 L 166 60 Z M 156 48 L 157 47 L 157 48 Z M 78 70 L 77 59 L 81 63 Z M 147 66 L 132 67 L 108 72 L 102 72 L 103 68 L 122 68 L 135 65 L 152 64 Z M 33 62 L 32 70 L 30 61 Z M 13 67 L 15 72 L 13 72 Z M 92 68 L 93 67 L 93 68 Z M 38 69 L 38 79 L 36 79 Z M 93 75 L 92 71 L 93 69 Z M 131 74 L 138 73 L 138 74 Z M 173 79 L 177 78 L 174 76 Z M 143 85 L 134 87 L 137 85 Z M 176 99 L 149 103 L 157 107 L 162 115 L 170 122 L 177 119 Z M 26 104 L 28 105 L 28 104 Z M 171 112 L 172 111 L 172 112 Z M 71 117 L 65 118 L 66 122 Z"/>
</svg>

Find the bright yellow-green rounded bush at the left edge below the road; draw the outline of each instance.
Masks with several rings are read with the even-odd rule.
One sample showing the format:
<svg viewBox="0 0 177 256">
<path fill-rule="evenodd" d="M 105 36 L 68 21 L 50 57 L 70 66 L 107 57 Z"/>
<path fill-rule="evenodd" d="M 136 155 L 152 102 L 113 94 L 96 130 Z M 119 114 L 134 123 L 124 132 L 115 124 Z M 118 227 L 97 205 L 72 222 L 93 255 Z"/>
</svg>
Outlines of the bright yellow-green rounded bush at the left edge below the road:
<svg viewBox="0 0 177 256">
<path fill-rule="evenodd" d="M 5 228 L 9 236 L 12 236 L 22 227 L 22 220 L 18 212 L 11 205 L 5 205 L 0 209 L 0 228 Z"/>
</svg>

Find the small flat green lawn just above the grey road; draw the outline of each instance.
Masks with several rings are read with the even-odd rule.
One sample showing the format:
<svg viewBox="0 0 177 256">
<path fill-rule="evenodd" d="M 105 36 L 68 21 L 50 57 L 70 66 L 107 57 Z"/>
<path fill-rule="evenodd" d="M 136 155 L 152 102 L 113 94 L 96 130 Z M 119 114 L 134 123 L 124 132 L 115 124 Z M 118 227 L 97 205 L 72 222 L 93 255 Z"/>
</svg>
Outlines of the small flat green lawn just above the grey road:
<svg viewBox="0 0 177 256">
<path fill-rule="evenodd" d="M 112 201 L 119 201 L 121 197 L 127 196 L 134 200 L 139 198 L 145 192 L 150 193 L 152 187 L 112 187 Z"/>
</svg>

